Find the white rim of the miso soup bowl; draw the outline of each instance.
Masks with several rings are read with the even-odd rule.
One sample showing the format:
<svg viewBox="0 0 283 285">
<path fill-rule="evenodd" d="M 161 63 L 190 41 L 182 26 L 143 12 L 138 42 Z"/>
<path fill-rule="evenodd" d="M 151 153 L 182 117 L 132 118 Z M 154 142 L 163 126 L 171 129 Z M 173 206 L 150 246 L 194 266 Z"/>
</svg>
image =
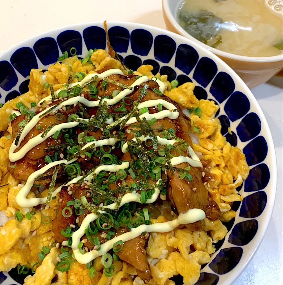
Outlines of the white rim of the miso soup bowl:
<svg viewBox="0 0 283 285">
<path fill-rule="evenodd" d="M 240 56 L 237 54 L 233 54 L 233 53 L 228 53 L 226 51 L 220 51 L 216 48 L 211 48 L 208 45 L 200 42 L 199 40 L 195 39 L 194 37 L 192 37 L 189 33 L 187 33 L 177 22 L 177 20 L 175 19 L 175 16 L 173 15 L 170 7 L 169 7 L 169 1 L 171 0 L 162 0 L 162 9 L 165 13 L 165 15 L 167 16 L 167 18 L 169 19 L 170 23 L 175 27 L 175 29 L 177 30 L 177 32 L 180 33 L 180 35 L 184 36 L 185 38 L 188 38 L 194 42 L 197 42 L 199 45 L 201 45 L 202 47 L 205 47 L 206 49 L 208 49 L 210 52 L 218 55 L 218 56 L 222 56 L 224 58 L 229 58 L 229 59 L 233 59 L 236 61 L 246 61 L 246 62 L 252 62 L 252 63 L 271 63 L 271 62 L 278 62 L 278 61 L 283 61 L 283 54 L 279 54 L 277 56 L 266 56 L 266 57 L 256 57 L 256 56 Z M 180 3 L 180 0 L 178 1 L 178 3 Z"/>
</svg>

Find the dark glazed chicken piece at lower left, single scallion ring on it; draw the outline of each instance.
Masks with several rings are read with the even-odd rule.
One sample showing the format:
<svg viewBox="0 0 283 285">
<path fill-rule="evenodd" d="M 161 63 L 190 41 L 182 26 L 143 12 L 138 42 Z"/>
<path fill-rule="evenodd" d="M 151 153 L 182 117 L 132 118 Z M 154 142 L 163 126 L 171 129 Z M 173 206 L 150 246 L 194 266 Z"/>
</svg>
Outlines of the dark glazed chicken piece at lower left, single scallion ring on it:
<svg viewBox="0 0 283 285">
<path fill-rule="evenodd" d="M 60 200 L 62 199 L 62 201 Z M 73 215 L 65 218 L 62 215 L 62 210 L 67 206 L 67 202 L 68 201 L 73 201 L 73 196 L 68 194 L 68 187 L 67 186 L 63 186 L 61 191 L 60 191 L 60 199 L 59 201 L 59 209 L 58 209 L 58 213 L 57 216 L 55 217 L 55 219 L 52 221 L 52 232 L 54 232 L 55 234 L 55 240 L 57 240 L 57 242 L 61 243 L 63 240 L 68 240 L 68 237 L 63 237 L 61 234 L 62 229 L 66 229 L 68 226 L 70 226 L 71 224 L 74 224 L 75 222 L 75 208 L 74 206 L 69 206 L 72 211 L 73 211 Z M 69 212 L 67 211 L 66 214 L 69 214 Z"/>
</svg>

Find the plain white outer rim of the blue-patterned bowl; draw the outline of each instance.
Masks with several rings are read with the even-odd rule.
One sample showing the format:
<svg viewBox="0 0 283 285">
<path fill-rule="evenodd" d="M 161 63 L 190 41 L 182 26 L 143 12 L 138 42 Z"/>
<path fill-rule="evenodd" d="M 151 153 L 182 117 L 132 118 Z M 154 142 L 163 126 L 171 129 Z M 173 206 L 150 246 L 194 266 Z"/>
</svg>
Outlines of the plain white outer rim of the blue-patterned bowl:
<svg viewBox="0 0 283 285">
<path fill-rule="evenodd" d="M 186 37 L 183 37 L 181 35 L 178 35 L 174 32 L 170 32 L 158 27 L 153 27 L 150 25 L 144 25 L 144 24 L 139 24 L 139 23 L 133 23 L 133 22 L 124 22 L 124 21 L 107 21 L 107 23 L 109 24 L 108 26 L 114 27 L 114 26 L 123 26 L 123 27 L 127 27 L 130 26 L 131 28 L 134 29 L 139 29 L 139 28 L 144 28 L 145 30 L 155 30 L 160 32 L 160 34 L 165 34 L 168 35 L 170 37 L 172 37 L 173 39 L 177 38 L 178 40 L 181 40 L 189 45 L 192 45 L 192 47 L 194 47 L 196 50 L 200 49 L 202 50 L 204 53 L 207 54 L 207 56 L 209 56 L 213 61 L 215 61 L 216 63 L 218 63 L 219 65 L 222 65 L 224 68 L 226 68 L 226 72 L 229 73 L 230 75 L 233 76 L 233 80 L 238 81 L 239 85 L 241 85 L 241 87 L 243 88 L 243 92 L 245 92 L 245 95 L 249 98 L 250 103 L 252 103 L 257 111 L 257 115 L 259 116 L 260 120 L 261 120 L 261 126 L 264 127 L 267 137 L 265 137 L 266 139 L 266 143 L 268 145 L 268 152 L 269 152 L 269 159 L 270 162 L 268 162 L 269 168 L 272 170 L 270 171 L 270 180 L 269 180 L 269 189 L 270 189 L 270 193 L 269 193 L 269 197 L 268 197 L 268 201 L 266 203 L 266 207 L 265 207 L 265 223 L 262 223 L 262 226 L 258 229 L 257 234 L 256 234 L 256 238 L 254 238 L 254 240 L 256 242 L 253 243 L 253 245 L 249 246 L 249 251 L 251 252 L 250 255 L 246 254 L 245 256 L 242 255 L 241 257 L 241 261 L 243 260 L 244 265 L 242 267 L 237 267 L 233 269 L 233 271 L 228 272 L 227 274 L 229 274 L 229 281 L 225 285 L 232 285 L 236 279 L 241 275 L 241 273 L 245 270 L 245 268 L 248 266 L 248 264 L 250 263 L 251 259 L 254 257 L 256 251 L 258 250 L 265 232 L 267 230 L 267 227 L 269 225 L 271 216 L 272 216 L 272 212 L 274 209 L 274 204 L 275 204 L 275 196 L 276 196 L 276 192 L 277 192 L 277 161 L 276 161 L 276 154 L 275 154 L 275 147 L 274 147 L 274 143 L 273 143 L 273 139 L 272 139 L 272 135 L 269 129 L 269 125 L 267 123 L 267 120 L 264 116 L 263 111 L 261 110 L 259 103 L 256 101 L 256 98 L 254 97 L 254 95 L 252 94 L 251 90 L 246 86 L 246 84 L 243 82 L 243 80 L 240 78 L 240 76 L 238 76 L 238 74 L 236 74 L 235 71 L 233 71 L 233 69 L 228 66 L 227 63 L 225 63 L 221 58 L 219 58 L 218 56 L 216 56 L 215 54 L 213 54 L 211 51 L 209 51 L 207 48 L 205 48 L 205 45 L 200 45 L 198 42 L 195 42 L 193 40 L 190 40 Z M 0 54 L 0 61 L 4 59 L 4 57 L 6 55 L 11 54 L 12 52 L 14 52 L 16 49 L 21 48 L 23 46 L 25 46 L 29 41 L 36 41 L 39 40 L 45 36 L 51 36 L 51 33 L 60 33 L 63 32 L 65 30 L 70 30 L 72 28 L 83 28 L 85 29 L 86 27 L 90 27 L 90 26 L 102 26 L 103 27 L 103 21 L 96 21 L 96 22 L 84 22 L 84 23 L 79 23 L 79 24 L 73 24 L 73 25 L 65 25 L 56 29 L 52 29 L 46 32 L 43 32 L 41 34 L 37 34 L 33 37 L 30 37 L 26 40 L 23 40 L 22 42 L 20 42 L 17 45 L 14 45 L 13 47 L 9 48 L 8 50 L 6 50 L 4 53 Z M 7 59 L 4 59 L 7 60 Z M 270 201 L 270 202 L 269 202 Z M 232 244 L 231 244 L 232 246 Z M 241 262 L 240 261 L 240 262 Z M 216 273 L 217 274 L 217 273 Z"/>
</svg>

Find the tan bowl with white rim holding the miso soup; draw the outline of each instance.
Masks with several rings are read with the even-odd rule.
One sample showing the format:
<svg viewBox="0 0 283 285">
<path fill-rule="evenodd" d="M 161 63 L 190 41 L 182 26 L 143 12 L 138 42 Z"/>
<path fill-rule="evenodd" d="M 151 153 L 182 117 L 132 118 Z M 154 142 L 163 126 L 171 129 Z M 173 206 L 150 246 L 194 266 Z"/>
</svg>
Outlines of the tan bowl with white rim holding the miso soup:
<svg viewBox="0 0 283 285">
<path fill-rule="evenodd" d="M 213 52 L 226 62 L 251 89 L 266 82 L 282 69 L 283 55 L 269 57 L 239 56 L 211 48 L 189 35 L 177 21 L 180 0 L 162 0 L 163 18 L 167 30 L 188 38 Z M 275 16 L 274 16 L 275 17 Z"/>
</svg>

